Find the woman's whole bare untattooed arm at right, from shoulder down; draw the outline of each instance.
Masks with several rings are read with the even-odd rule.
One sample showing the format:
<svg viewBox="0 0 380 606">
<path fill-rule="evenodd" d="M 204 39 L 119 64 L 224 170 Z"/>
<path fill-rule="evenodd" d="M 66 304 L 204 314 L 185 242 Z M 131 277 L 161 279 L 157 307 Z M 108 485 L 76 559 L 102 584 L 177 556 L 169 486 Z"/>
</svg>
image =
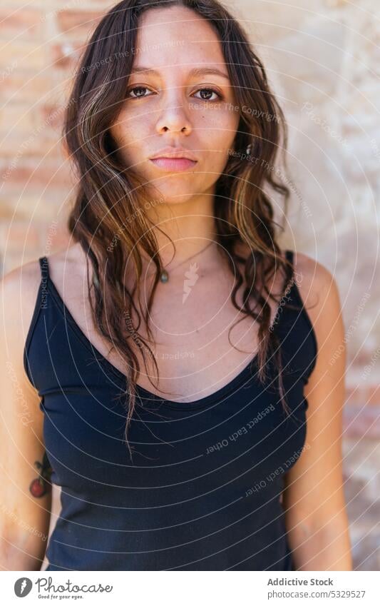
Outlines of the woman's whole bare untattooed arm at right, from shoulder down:
<svg viewBox="0 0 380 606">
<path fill-rule="evenodd" d="M 300 253 L 297 259 L 299 291 L 314 326 L 318 355 L 304 388 L 309 448 L 285 475 L 289 547 L 297 570 L 352 570 L 342 474 L 346 351 L 339 292 L 326 268 Z"/>
</svg>

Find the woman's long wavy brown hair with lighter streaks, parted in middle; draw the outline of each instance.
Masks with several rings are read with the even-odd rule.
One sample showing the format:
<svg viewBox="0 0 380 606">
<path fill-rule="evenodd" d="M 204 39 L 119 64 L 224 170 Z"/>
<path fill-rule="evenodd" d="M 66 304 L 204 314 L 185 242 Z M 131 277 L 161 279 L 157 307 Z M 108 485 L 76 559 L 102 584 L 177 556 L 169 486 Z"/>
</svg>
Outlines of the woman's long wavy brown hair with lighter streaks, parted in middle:
<svg viewBox="0 0 380 606">
<path fill-rule="evenodd" d="M 255 358 L 258 377 L 262 382 L 266 380 L 270 353 L 278 371 L 282 405 L 289 412 L 284 399 L 278 337 L 275 330 L 271 330 L 271 308 L 267 303 L 268 296 L 277 301 L 269 293 L 267 282 L 278 268 L 284 272 L 285 283 L 292 281 L 292 267 L 282 260 L 277 245 L 278 224 L 274 220 L 269 192 L 265 192 L 269 186 L 282 196 L 286 215 L 289 188 L 281 179 L 285 172 L 274 170 L 277 156 L 282 158 L 284 171 L 286 166 L 287 126 L 282 109 L 272 94 L 264 66 L 252 50 L 247 34 L 218 1 L 123 0 L 103 16 L 86 44 L 66 106 L 63 139 L 78 173 L 68 228 L 74 241 L 81 243 L 86 253 L 89 292 L 93 289 L 93 301 L 90 297 L 93 320 L 111 348 L 117 348 L 128 368 L 125 373 L 128 386 L 125 393 L 127 444 L 140 373 L 135 345 L 143 354 L 145 370 L 147 355 L 153 360 L 157 376 L 158 365 L 153 351 L 138 333 L 142 320 L 133 301 L 135 289 L 128 291 L 123 273 L 128 263 L 133 268 L 139 288 L 141 253 L 155 263 L 155 280 L 143 318 L 148 337 L 152 340 L 149 315 L 163 267 L 158 242 L 145 213 L 145 208 L 149 208 L 146 205 L 151 205 L 152 199 L 148 198 L 138 174 L 126 167 L 118 155 L 109 128 L 125 101 L 140 15 L 164 6 L 192 9 L 207 19 L 220 37 L 225 64 L 240 107 L 240 121 L 234 141 L 235 153 L 229 155 L 225 170 L 216 183 L 215 241 L 224 251 L 227 264 L 235 275 L 231 294 L 233 305 L 243 315 L 250 315 L 259 323 L 259 349 Z M 252 111 L 247 111 L 247 108 L 252 108 Z M 246 153 L 248 146 L 251 146 L 249 156 Z M 283 226 L 278 227 L 283 229 Z M 247 258 L 240 256 L 236 251 L 239 243 L 248 246 L 252 254 Z M 92 265 L 91 278 L 88 259 Z M 244 271 L 240 271 L 240 267 Z M 243 305 L 240 308 L 236 295 L 242 285 Z M 132 318 L 137 321 L 133 323 Z"/>
</svg>

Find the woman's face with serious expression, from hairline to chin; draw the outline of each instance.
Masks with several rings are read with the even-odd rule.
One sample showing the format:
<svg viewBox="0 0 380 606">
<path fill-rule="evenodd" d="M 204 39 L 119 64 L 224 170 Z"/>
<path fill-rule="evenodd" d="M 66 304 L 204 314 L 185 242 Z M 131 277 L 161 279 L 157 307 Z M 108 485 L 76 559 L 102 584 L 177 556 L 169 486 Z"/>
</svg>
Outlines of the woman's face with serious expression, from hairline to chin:
<svg viewBox="0 0 380 606">
<path fill-rule="evenodd" d="M 220 41 L 210 24 L 183 7 L 146 11 L 125 103 L 111 127 L 125 165 L 148 189 L 152 183 L 155 197 L 159 193 L 165 203 L 212 193 L 238 123 Z M 173 152 L 180 158 L 170 158 Z"/>
</svg>

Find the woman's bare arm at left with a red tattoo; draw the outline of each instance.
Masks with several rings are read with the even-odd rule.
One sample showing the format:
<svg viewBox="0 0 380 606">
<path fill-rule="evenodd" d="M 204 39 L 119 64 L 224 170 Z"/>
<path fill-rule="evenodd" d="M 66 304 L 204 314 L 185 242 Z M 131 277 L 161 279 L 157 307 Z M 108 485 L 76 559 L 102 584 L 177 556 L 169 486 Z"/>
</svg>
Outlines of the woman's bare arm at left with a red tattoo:
<svg viewBox="0 0 380 606">
<path fill-rule="evenodd" d="M 51 484 L 49 470 L 43 468 L 41 398 L 23 361 L 40 280 L 38 263 L 29 263 L 22 268 L 22 280 L 19 268 L 1 282 L 1 570 L 41 570 L 48 537 Z"/>
</svg>

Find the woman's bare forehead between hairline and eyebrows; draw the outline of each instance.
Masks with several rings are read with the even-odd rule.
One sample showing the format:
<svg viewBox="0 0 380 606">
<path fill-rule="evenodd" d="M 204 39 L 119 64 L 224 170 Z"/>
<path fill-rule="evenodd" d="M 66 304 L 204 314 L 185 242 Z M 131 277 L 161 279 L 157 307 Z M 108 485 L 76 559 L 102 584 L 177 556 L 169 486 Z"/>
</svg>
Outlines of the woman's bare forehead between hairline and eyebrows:
<svg viewBox="0 0 380 606">
<path fill-rule="evenodd" d="M 163 72 L 214 66 L 227 74 L 220 39 L 195 11 L 183 6 L 149 9 L 140 17 L 134 66 Z"/>
</svg>

